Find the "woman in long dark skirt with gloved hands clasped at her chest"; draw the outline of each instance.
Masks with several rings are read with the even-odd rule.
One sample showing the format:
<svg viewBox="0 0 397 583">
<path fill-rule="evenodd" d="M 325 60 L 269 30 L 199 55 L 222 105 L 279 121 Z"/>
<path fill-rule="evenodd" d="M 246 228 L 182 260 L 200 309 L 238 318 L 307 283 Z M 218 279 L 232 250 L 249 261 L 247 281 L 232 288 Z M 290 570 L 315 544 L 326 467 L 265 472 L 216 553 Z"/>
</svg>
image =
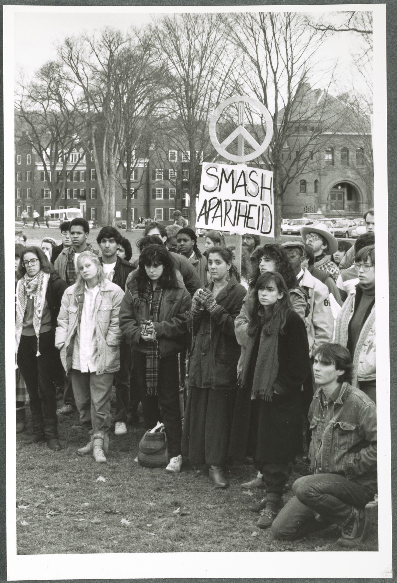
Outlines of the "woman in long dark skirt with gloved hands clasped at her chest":
<svg viewBox="0 0 397 583">
<path fill-rule="evenodd" d="M 215 486 L 228 482 L 223 466 L 236 396 L 240 346 L 234 321 L 242 307 L 245 288 L 233 274 L 232 253 L 226 247 L 208 250 L 211 283 L 193 296 L 188 327 L 192 331 L 182 454 L 194 465 L 209 466 Z"/>
</svg>

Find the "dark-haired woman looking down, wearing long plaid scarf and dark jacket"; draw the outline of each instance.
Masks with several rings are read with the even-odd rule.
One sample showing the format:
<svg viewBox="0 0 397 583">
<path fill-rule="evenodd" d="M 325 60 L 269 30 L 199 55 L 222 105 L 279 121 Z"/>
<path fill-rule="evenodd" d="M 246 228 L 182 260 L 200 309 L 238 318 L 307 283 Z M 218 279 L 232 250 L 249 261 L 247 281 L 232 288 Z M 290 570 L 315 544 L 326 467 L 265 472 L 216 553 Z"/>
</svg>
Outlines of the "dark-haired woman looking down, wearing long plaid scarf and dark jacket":
<svg viewBox="0 0 397 583">
<path fill-rule="evenodd" d="M 166 247 L 145 247 L 127 282 L 120 329 L 132 348 L 143 412 L 151 427 L 159 420 L 159 406 L 171 457 L 166 470 L 174 473 L 182 466 L 178 354 L 185 346 L 185 312 L 191 305 Z"/>
</svg>

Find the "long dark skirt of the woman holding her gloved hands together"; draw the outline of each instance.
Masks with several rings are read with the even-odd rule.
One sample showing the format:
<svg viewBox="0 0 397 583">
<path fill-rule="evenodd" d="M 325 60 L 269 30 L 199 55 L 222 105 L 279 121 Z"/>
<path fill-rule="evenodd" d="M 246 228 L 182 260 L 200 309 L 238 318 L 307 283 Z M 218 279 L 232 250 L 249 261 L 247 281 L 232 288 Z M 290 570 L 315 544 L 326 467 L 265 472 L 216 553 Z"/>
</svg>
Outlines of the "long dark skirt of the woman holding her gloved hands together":
<svg viewBox="0 0 397 583">
<path fill-rule="evenodd" d="M 182 455 L 193 465 L 224 466 L 228 459 L 236 389 L 189 387 Z"/>
</svg>

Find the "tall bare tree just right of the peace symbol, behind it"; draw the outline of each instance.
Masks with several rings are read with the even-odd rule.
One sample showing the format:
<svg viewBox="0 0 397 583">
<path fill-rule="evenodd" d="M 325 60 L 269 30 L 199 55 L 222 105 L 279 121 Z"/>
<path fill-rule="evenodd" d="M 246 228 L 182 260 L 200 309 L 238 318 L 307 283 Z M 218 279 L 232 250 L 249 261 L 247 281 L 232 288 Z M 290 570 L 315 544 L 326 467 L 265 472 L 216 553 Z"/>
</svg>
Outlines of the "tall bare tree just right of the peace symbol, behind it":
<svg viewBox="0 0 397 583">
<path fill-rule="evenodd" d="M 278 237 L 286 188 L 325 149 L 329 134 L 343 124 L 343 111 L 329 108 L 327 89 L 314 93 L 307 82 L 322 35 L 300 13 L 232 15 L 229 37 L 243 58 L 242 92 L 256 97 L 272 117 L 272 140 L 260 162 L 273 172 Z M 250 120 L 261 143 L 267 129 L 264 118 L 251 111 Z"/>
</svg>

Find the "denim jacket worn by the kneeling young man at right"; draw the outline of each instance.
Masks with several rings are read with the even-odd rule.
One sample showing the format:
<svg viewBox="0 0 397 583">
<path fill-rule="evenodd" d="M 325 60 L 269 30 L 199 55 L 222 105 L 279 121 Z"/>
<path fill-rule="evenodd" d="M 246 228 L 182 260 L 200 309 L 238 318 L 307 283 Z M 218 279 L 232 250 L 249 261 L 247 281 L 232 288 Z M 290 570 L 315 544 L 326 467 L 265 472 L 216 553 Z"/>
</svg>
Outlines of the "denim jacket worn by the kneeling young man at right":
<svg viewBox="0 0 397 583">
<path fill-rule="evenodd" d="M 376 406 L 359 389 L 344 382 L 335 402 L 324 405 L 318 389 L 309 410 L 313 473 L 336 473 L 349 479 L 376 476 Z"/>
</svg>

